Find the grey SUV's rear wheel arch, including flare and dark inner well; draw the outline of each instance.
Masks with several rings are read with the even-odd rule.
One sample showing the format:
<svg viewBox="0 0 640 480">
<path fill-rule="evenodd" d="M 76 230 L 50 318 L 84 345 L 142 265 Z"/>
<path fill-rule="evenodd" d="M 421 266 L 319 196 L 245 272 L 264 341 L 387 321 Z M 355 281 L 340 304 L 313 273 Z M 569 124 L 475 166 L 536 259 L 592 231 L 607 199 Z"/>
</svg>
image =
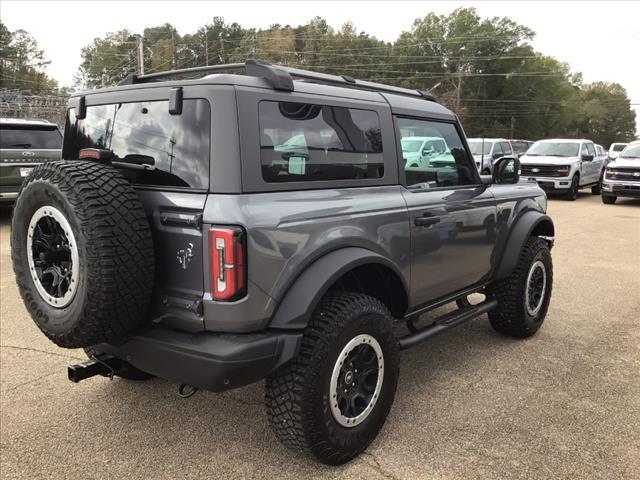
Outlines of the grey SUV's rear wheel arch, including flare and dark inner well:
<svg viewBox="0 0 640 480">
<path fill-rule="evenodd" d="M 395 318 L 408 308 L 408 286 L 389 259 L 361 247 L 334 250 L 312 263 L 289 287 L 269 326 L 301 329 L 307 326 L 322 297 L 333 287 L 378 298 Z"/>
</svg>

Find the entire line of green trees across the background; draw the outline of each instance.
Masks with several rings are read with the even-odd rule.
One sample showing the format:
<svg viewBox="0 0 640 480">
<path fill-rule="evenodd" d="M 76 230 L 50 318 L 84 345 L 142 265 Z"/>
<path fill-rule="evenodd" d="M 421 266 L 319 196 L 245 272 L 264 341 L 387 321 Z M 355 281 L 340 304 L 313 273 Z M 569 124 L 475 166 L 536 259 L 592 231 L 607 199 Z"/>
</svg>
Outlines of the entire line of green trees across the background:
<svg viewBox="0 0 640 480">
<path fill-rule="evenodd" d="M 605 147 L 634 137 L 629 98 L 618 84 L 584 85 L 567 64 L 536 52 L 534 32 L 506 17 L 481 18 L 473 8 L 429 13 L 393 43 L 358 32 L 347 22 L 333 29 L 321 17 L 298 25 L 243 28 L 214 17 L 180 35 L 170 24 L 96 38 L 82 49 L 80 86 L 117 84 L 145 73 L 261 58 L 272 63 L 430 90 L 462 119 L 470 136 L 537 140 L 586 137 Z M 143 62 L 139 65 L 139 45 Z M 47 64 L 24 31 L 0 23 L 3 87 L 56 88 Z"/>
</svg>

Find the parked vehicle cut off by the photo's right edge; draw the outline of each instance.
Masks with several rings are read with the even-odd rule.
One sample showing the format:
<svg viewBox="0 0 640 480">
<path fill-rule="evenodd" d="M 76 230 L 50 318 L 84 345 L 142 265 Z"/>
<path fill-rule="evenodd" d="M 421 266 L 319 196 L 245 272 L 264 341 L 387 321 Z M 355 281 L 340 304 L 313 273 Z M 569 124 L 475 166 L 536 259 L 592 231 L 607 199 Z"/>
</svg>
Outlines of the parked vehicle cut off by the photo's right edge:
<svg viewBox="0 0 640 480">
<path fill-rule="evenodd" d="M 631 143 L 607 165 L 602 201 L 613 204 L 618 197 L 640 198 L 640 142 Z"/>
</svg>

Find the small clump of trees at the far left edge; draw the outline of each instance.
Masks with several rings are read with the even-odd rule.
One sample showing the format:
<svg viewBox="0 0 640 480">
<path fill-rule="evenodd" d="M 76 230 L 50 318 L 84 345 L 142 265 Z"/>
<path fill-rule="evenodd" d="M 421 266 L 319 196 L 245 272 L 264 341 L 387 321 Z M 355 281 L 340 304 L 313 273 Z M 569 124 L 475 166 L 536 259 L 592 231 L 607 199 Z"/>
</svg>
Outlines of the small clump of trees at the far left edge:
<svg viewBox="0 0 640 480">
<path fill-rule="evenodd" d="M 45 73 L 48 64 L 44 51 L 29 33 L 11 32 L 0 22 L 0 88 L 54 93 L 58 83 Z"/>
</svg>

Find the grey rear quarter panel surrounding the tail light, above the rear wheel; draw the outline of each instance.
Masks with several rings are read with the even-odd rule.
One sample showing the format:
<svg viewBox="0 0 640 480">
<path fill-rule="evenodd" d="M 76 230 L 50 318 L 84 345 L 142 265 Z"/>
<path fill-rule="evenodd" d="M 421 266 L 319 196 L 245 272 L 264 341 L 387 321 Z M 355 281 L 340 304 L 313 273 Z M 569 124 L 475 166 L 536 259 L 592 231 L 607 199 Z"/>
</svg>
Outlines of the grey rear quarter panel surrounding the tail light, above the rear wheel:
<svg viewBox="0 0 640 480">
<path fill-rule="evenodd" d="M 402 188 L 209 195 L 205 224 L 236 224 L 247 231 L 249 283 L 247 297 L 233 303 L 211 301 L 206 284 L 206 328 L 265 327 L 305 268 L 339 248 L 363 247 L 389 258 L 408 284 L 410 232 Z"/>
</svg>

